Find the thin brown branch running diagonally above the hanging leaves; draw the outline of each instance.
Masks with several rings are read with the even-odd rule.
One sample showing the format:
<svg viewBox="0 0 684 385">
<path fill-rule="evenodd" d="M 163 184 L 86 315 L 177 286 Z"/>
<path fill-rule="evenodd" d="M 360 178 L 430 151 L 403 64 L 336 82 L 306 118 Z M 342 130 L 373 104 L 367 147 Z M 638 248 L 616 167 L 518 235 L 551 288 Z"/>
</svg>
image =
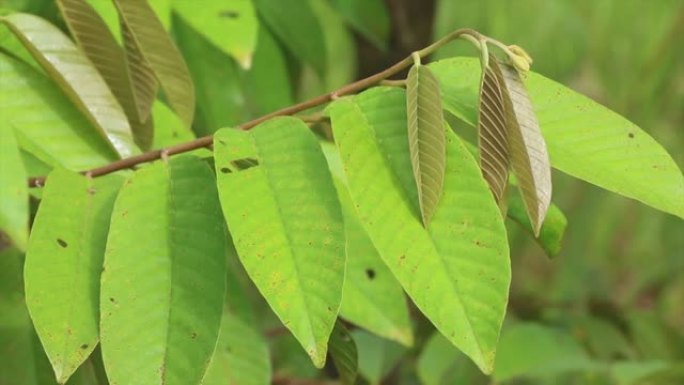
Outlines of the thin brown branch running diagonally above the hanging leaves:
<svg viewBox="0 0 684 385">
<path fill-rule="evenodd" d="M 271 112 L 269 114 L 263 115 L 259 118 L 256 118 L 254 120 L 250 120 L 246 123 L 242 123 L 239 125 L 237 128 L 241 130 L 250 130 L 254 126 L 257 126 L 260 123 L 265 122 L 266 120 L 278 117 L 278 116 L 288 116 L 288 115 L 294 115 L 299 112 L 308 110 L 313 107 L 317 107 L 320 105 L 323 105 L 325 103 L 329 103 L 341 96 L 349 95 L 349 94 L 354 94 L 359 91 L 362 91 L 366 88 L 369 88 L 377 83 L 380 83 L 383 80 L 386 80 L 390 76 L 396 75 L 397 73 L 401 72 L 402 70 L 406 69 L 407 67 L 411 66 L 414 61 L 414 56 L 419 56 L 421 58 L 426 57 L 430 54 L 432 54 L 434 51 L 436 51 L 438 48 L 448 44 L 449 42 L 461 37 L 461 36 L 470 36 L 470 37 L 475 37 L 475 38 L 481 38 L 482 36 L 480 35 L 479 32 L 470 29 L 470 28 L 462 28 L 458 29 L 447 36 L 437 40 L 436 42 L 432 43 L 431 45 L 421 49 L 420 51 L 414 52 L 412 55 L 407 56 L 403 60 L 397 62 L 393 66 L 376 73 L 375 75 L 371 75 L 367 78 L 358 80 L 356 82 L 347 84 L 345 86 L 342 86 L 341 88 L 329 92 L 327 94 L 319 95 L 314 98 L 311 98 L 309 100 L 306 100 L 304 102 L 292 105 L 290 107 L 283 108 L 278 111 Z M 124 158 L 121 160 L 117 160 L 115 162 L 109 163 L 105 166 L 101 167 L 96 167 L 90 170 L 82 171 L 81 174 L 84 175 L 89 175 L 91 177 L 98 177 L 106 174 L 110 174 L 116 171 L 120 170 L 125 170 L 129 168 L 133 168 L 139 164 L 142 163 L 147 163 L 147 162 L 152 162 L 155 160 L 158 160 L 162 158 L 163 156 L 171 156 L 175 154 L 181 154 L 184 152 L 189 152 L 192 150 L 196 150 L 199 148 L 203 147 L 210 147 L 213 143 L 213 135 L 207 135 L 203 136 L 201 138 L 197 138 L 195 140 L 192 140 L 190 142 L 185 142 L 181 144 L 177 144 L 175 146 L 171 146 L 168 148 L 164 149 L 158 149 L 158 150 L 152 150 L 140 155 L 132 156 L 130 158 Z M 40 176 L 40 177 L 33 177 L 29 178 L 28 184 L 29 187 L 42 187 L 45 184 L 45 176 Z"/>
</svg>

